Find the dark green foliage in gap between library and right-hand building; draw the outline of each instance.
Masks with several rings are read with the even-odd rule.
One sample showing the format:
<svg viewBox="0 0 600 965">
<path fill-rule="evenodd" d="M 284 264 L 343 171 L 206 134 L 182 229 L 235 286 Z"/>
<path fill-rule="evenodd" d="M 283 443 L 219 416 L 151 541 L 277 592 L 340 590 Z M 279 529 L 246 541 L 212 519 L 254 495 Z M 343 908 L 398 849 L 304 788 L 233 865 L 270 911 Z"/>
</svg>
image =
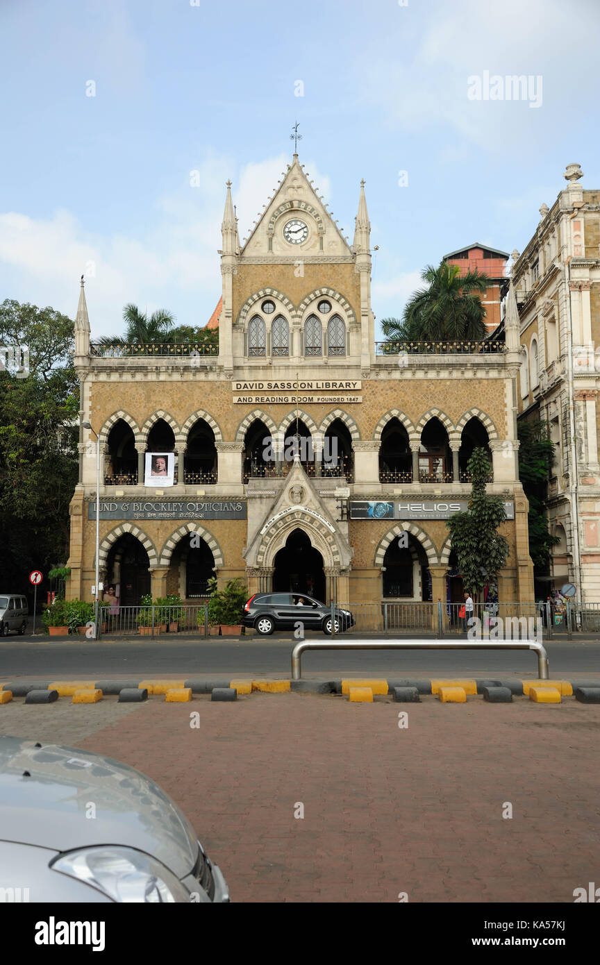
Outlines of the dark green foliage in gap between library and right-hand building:
<svg viewBox="0 0 600 965">
<path fill-rule="evenodd" d="M 555 447 L 548 435 L 548 425 L 542 420 L 521 421 L 517 427 L 519 446 L 519 479 L 530 504 L 530 556 L 538 570 L 547 568 L 550 549 L 559 542 L 548 531 L 544 514 L 544 499 L 548 479 L 555 458 Z"/>
</svg>

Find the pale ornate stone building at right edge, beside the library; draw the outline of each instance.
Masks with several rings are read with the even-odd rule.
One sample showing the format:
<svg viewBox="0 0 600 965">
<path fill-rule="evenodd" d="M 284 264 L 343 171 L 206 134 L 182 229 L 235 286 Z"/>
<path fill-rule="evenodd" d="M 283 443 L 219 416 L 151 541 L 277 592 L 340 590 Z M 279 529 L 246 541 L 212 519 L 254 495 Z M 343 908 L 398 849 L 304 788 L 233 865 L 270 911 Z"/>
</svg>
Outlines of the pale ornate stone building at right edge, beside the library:
<svg viewBox="0 0 600 965">
<path fill-rule="evenodd" d="M 547 423 L 556 446 L 546 510 L 553 547 L 545 582 L 600 602 L 600 189 L 579 164 L 522 254 L 512 253 L 507 314 L 518 312 L 519 418 Z M 511 304 L 512 298 L 512 304 Z M 542 577 L 543 578 L 543 577 Z"/>
</svg>

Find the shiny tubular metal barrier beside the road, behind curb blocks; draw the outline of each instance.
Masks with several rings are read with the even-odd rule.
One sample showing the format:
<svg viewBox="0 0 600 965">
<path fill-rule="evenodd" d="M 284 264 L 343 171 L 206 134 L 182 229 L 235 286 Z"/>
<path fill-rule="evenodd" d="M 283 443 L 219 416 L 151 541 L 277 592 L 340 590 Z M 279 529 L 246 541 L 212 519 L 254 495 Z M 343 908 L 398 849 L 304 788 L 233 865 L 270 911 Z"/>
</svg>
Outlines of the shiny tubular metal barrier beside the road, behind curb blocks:
<svg viewBox="0 0 600 965">
<path fill-rule="evenodd" d="M 326 643 L 303 640 L 291 651 L 291 678 L 302 679 L 302 654 L 305 650 L 534 650 L 537 654 L 537 673 L 540 680 L 548 680 L 548 654 L 536 640 L 503 641 L 491 644 L 489 641 L 474 640 L 464 643 L 458 641 L 394 640 L 381 643 L 374 640 L 352 640 L 347 643 Z"/>
</svg>

